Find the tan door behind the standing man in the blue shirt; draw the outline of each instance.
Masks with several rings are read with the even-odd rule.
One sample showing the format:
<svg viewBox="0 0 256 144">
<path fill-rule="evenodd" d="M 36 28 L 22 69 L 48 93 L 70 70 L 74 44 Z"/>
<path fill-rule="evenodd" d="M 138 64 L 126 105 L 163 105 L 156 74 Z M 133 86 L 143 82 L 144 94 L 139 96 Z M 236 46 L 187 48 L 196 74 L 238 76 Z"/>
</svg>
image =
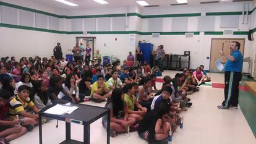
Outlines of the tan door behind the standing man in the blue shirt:
<svg viewBox="0 0 256 144">
<path fill-rule="evenodd" d="M 215 66 L 215 61 L 217 59 L 222 59 L 227 61 L 226 57 L 220 56 L 219 51 L 224 53 L 230 53 L 230 43 L 232 41 L 237 41 L 241 44 L 240 51 L 244 55 L 244 38 L 212 38 L 211 39 L 211 59 L 210 59 L 210 72 L 220 72 Z"/>
</svg>

